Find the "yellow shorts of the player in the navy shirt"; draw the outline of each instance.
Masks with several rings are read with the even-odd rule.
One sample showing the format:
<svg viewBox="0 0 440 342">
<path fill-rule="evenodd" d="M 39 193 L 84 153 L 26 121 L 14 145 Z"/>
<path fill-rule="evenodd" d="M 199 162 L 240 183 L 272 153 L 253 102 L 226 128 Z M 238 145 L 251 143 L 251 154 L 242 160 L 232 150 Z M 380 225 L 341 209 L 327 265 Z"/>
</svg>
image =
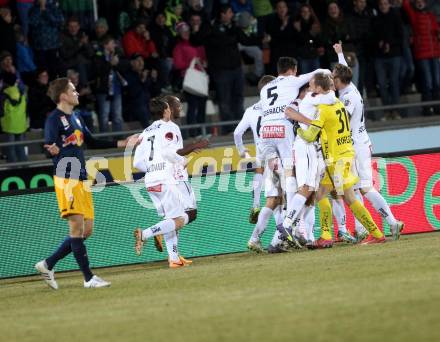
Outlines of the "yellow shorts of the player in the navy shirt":
<svg viewBox="0 0 440 342">
<path fill-rule="evenodd" d="M 93 198 L 90 186 L 83 181 L 54 176 L 55 193 L 57 195 L 60 216 L 83 215 L 85 219 L 93 219 Z"/>
</svg>

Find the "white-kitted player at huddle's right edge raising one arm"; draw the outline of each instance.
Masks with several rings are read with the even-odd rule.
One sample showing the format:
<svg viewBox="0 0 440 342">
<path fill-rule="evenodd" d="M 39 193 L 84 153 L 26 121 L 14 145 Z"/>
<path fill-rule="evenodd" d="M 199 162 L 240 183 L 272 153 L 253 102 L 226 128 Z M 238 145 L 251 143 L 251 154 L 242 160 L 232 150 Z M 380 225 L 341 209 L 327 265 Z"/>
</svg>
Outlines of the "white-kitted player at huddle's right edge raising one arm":
<svg viewBox="0 0 440 342">
<path fill-rule="evenodd" d="M 333 70 L 333 78 L 336 89 L 339 91 L 339 98 L 344 103 L 350 115 L 351 137 L 355 150 L 355 167 L 360 181 L 355 185 L 358 199 L 363 202 L 362 195 L 365 196 L 374 209 L 390 225 L 393 238 L 397 240 L 404 228 L 402 221 L 396 220 L 391 212 L 390 206 L 383 196 L 373 187 L 373 172 L 371 168 L 371 141 L 365 128 L 364 103 L 362 96 L 356 86 L 351 82 L 352 72 L 347 66 L 341 44 L 333 46 L 338 54 L 340 64 Z M 360 193 L 359 193 L 360 192 Z M 362 194 L 362 195 L 361 195 Z M 360 223 L 356 225 L 359 229 Z"/>
</svg>

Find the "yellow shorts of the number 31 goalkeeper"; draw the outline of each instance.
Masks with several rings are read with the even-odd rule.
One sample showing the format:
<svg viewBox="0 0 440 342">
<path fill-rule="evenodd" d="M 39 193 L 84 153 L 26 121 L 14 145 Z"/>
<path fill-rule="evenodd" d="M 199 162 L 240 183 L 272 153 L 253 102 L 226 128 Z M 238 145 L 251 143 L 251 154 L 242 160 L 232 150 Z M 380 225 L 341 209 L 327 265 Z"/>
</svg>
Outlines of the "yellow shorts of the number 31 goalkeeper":
<svg viewBox="0 0 440 342">
<path fill-rule="evenodd" d="M 359 177 L 352 172 L 353 161 L 353 157 L 346 157 L 327 165 L 321 185 L 335 189 L 340 195 L 344 190 L 353 187 L 359 181 Z"/>
</svg>

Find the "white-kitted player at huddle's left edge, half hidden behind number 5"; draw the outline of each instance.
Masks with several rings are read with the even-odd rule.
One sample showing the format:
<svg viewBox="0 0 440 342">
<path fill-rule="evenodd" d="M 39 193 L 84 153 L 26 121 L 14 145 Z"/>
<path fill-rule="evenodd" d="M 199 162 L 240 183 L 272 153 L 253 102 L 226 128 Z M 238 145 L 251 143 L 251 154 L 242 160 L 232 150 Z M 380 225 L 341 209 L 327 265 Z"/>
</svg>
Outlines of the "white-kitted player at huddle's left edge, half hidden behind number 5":
<svg viewBox="0 0 440 342">
<path fill-rule="evenodd" d="M 274 80 L 275 77 L 271 75 L 264 75 L 261 77 L 258 82 L 258 91 L 261 90 L 267 83 Z M 234 130 L 234 142 L 237 147 L 238 153 L 241 158 L 246 158 L 249 156 L 249 151 L 244 147 L 243 144 L 243 134 L 249 128 L 252 130 L 252 135 L 254 138 L 254 145 L 256 151 L 256 168 L 254 179 L 252 181 L 252 196 L 253 196 L 253 204 L 251 208 L 251 212 L 249 215 L 250 223 L 257 223 L 258 216 L 260 213 L 260 197 L 261 197 L 261 188 L 263 186 L 263 160 L 260 152 L 260 147 L 258 142 L 260 140 L 260 125 L 261 125 L 261 104 L 260 101 L 254 103 L 252 106 L 248 107 L 243 117 L 241 118 L 239 124 Z"/>
</svg>

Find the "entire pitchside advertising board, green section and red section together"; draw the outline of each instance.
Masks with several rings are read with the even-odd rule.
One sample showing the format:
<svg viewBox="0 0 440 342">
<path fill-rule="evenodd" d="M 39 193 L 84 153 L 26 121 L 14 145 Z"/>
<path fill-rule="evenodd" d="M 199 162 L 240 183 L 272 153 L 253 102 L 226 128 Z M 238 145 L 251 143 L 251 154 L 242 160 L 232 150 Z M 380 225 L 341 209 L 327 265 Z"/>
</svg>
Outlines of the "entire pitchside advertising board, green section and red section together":
<svg viewBox="0 0 440 342">
<path fill-rule="evenodd" d="M 390 203 L 395 216 L 405 222 L 403 233 L 440 230 L 440 153 L 378 158 L 373 169 L 375 187 Z M 191 178 L 198 217 L 179 234 L 183 256 L 246 250 L 254 228 L 248 223 L 252 177 L 253 172 L 237 172 Z M 134 253 L 133 229 L 146 228 L 159 220 L 142 181 L 95 186 L 93 197 L 95 230 L 86 241 L 92 267 L 167 259 L 166 252 L 158 253 L 151 241 L 142 256 Z M 367 201 L 366 205 L 378 226 L 388 234 L 389 227 L 382 217 Z M 353 228 L 349 210 L 347 225 Z M 269 244 L 274 229 L 271 219 L 262 239 L 264 246 Z M 49 256 L 67 233 L 67 222 L 59 218 L 54 192 L 0 196 L 0 278 L 35 274 L 33 265 Z M 56 266 L 57 271 L 77 268 L 72 256 Z"/>
</svg>

